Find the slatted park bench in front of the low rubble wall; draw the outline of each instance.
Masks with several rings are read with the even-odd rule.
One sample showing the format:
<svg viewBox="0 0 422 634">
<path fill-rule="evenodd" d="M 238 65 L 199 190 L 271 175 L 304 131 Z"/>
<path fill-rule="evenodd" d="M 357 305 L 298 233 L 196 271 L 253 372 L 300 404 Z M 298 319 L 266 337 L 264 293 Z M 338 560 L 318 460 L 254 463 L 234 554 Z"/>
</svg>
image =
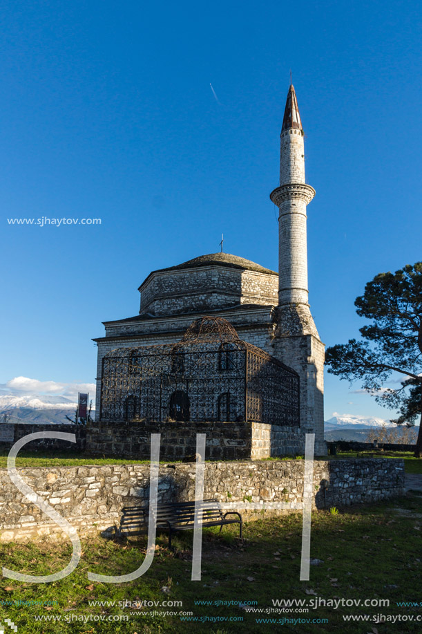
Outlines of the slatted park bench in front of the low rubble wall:
<svg viewBox="0 0 422 634">
<path fill-rule="evenodd" d="M 228 518 L 236 515 L 236 518 Z M 222 512 L 217 500 L 203 500 L 199 512 L 202 527 L 239 524 L 239 537 L 242 538 L 242 516 L 236 511 Z M 126 506 L 122 510 L 117 535 L 119 537 L 133 537 L 148 530 L 149 507 Z M 193 530 L 195 524 L 195 502 L 165 502 L 157 504 L 157 530 L 169 531 L 169 548 L 171 536 L 180 530 Z"/>
</svg>

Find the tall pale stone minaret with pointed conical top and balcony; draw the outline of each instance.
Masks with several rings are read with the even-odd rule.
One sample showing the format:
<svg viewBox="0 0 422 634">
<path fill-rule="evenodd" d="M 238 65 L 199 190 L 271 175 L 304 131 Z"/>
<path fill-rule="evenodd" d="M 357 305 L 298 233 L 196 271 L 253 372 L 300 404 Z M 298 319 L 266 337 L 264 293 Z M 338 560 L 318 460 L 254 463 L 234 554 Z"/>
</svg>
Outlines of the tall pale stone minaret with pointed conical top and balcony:
<svg viewBox="0 0 422 634">
<path fill-rule="evenodd" d="M 300 375 L 300 428 L 324 445 L 324 349 L 308 302 L 306 207 L 315 189 L 305 183 L 303 127 L 290 85 L 280 134 L 280 186 L 270 194 L 278 216 L 278 318 L 274 355 Z"/>
</svg>

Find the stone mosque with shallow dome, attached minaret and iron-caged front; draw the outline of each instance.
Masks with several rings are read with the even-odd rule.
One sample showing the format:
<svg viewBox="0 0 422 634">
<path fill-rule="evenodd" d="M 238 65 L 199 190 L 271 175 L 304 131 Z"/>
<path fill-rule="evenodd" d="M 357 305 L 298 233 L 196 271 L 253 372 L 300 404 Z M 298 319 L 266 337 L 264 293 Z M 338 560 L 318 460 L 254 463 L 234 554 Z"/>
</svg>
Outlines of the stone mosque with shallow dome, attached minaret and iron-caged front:
<svg viewBox="0 0 422 634">
<path fill-rule="evenodd" d="M 324 344 L 307 284 L 303 128 L 294 87 L 280 135 L 278 272 L 227 253 L 151 272 L 135 317 L 106 321 L 98 345 L 94 453 L 149 456 L 161 433 L 164 459 L 303 453 L 305 433 L 325 454 Z"/>
</svg>

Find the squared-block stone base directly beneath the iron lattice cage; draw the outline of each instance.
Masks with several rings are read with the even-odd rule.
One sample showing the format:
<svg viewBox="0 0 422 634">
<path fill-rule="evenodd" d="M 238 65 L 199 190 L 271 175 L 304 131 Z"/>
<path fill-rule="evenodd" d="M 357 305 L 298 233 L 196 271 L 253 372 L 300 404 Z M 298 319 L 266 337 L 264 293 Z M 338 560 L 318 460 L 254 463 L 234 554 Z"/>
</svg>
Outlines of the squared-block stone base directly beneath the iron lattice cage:
<svg viewBox="0 0 422 634">
<path fill-rule="evenodd" d="M 160 433 L 160 459 L 182 460 L 196 451 L 196 434 L 206 433 L 207 460 L 252 460 L 304 453 L 298 427 L 258 422 L 95 422 L 88 427 L 89 454 L 149 458 L 151 433 Z"/>
</svg>

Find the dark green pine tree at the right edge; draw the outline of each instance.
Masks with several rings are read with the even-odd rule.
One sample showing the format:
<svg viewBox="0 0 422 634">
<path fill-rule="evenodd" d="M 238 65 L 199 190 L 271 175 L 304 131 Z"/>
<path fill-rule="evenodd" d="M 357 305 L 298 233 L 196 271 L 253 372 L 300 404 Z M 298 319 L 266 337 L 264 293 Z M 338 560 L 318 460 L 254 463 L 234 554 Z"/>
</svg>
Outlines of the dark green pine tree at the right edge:
<svg viewBox="0 0 422 634">
<path fill-rule="evenodd" d="M 360 380 L 380 404 L 399 411 L 392 422 L 414 425 L 422 415 L 422 262 L 379 273 L 355 306 L 371 323 L 360 328 L 360 341 L 349 339 L 327 349 L 328 371 Z M 385 387 L 394 372 L 405 378 L 396 389 Z M 421 424 L 415 456 L 422 456 Z"/>
</svg>

